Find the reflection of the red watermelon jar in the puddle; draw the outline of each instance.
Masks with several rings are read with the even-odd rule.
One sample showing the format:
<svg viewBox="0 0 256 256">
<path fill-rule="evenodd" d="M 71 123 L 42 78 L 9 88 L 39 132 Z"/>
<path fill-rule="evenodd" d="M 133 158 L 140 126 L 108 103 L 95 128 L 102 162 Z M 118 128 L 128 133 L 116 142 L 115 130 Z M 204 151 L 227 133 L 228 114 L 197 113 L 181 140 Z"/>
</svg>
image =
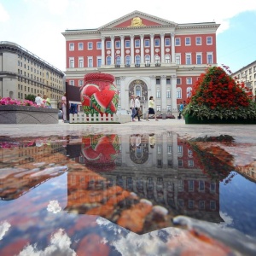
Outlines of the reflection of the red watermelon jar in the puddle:
<svg viewBox="0 0 256 256">
<path fill-rule="evenodd" d="M 83 137 L 81 154 L 86 166 L 94 171 L 113 170 L 119 154 L 119 137 L 111 135 L 90 135 Z"/>
</svg>

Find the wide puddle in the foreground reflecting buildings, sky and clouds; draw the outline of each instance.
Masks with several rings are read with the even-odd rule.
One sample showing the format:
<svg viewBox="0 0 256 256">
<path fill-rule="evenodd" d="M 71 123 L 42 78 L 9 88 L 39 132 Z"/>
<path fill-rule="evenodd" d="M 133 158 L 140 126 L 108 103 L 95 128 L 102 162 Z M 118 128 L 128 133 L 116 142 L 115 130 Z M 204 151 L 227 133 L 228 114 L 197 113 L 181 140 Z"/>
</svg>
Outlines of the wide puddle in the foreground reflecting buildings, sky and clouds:
<svg viewBox="0 0 256 256">
<path fill-rule="evenodd" d="M 256 237 L 255 147 L 172 132 L 0 137 L 0 254 L 211 253 L 193 230 L 212 252 L 217 240 L 241 250 L 237 230 Z"/>
</svg>

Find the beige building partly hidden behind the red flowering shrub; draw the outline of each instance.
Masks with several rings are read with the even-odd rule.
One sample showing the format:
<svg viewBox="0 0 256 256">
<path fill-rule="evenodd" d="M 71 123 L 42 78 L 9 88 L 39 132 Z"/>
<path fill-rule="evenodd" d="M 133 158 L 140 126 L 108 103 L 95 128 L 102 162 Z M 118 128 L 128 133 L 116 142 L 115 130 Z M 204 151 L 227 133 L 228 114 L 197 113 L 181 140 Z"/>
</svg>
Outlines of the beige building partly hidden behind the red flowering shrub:
<svg viewBox="0 0 256 256">
<path fill-rule="evenodd" d="M 244 82 L 249 90 L 252 90 L 253 96 L 256 96 L 256 61 L 248 64 L 246 67 L 241 67 L 235 73 L 232 73 L 232 78 L 238 82 Z"/>
</svg>

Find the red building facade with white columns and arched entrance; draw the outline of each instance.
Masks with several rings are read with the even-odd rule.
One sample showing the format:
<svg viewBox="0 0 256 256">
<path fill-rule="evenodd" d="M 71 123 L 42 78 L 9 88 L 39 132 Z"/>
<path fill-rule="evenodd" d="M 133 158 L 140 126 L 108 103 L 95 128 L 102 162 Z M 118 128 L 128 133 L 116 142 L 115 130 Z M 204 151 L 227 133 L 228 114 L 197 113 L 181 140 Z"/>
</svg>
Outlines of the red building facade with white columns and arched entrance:
<svg viewBox="0 0 256 256">
<path fill-rule="evenodd" d="M 66 30 L 67 83 L 82 86 L 86 73 L 110 73 L 119 109 L 129 109 L 135 94 L 143 112 L 154 96 L 158 113 L 176 113 L 200 74 L 217 66 L 218 26 L 177 24 L 134 11 L 96 29 Z"/>
</svg>

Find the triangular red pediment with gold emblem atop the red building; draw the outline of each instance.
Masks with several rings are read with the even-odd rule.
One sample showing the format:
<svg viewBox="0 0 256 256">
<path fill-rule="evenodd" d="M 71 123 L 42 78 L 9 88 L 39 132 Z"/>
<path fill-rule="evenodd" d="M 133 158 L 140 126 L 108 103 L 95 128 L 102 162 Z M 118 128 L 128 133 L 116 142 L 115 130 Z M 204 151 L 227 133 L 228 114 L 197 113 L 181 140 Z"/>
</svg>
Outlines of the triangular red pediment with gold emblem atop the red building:
<svg viewBox="0 0 256 256">
<path fill-rule="evenodd" d="M 177 23 L 169 20 L 163 20 L 136 10 L 99 27 L 99 30 L 137 28 L 145 26 L 177 26 Z"/>
</svg>

